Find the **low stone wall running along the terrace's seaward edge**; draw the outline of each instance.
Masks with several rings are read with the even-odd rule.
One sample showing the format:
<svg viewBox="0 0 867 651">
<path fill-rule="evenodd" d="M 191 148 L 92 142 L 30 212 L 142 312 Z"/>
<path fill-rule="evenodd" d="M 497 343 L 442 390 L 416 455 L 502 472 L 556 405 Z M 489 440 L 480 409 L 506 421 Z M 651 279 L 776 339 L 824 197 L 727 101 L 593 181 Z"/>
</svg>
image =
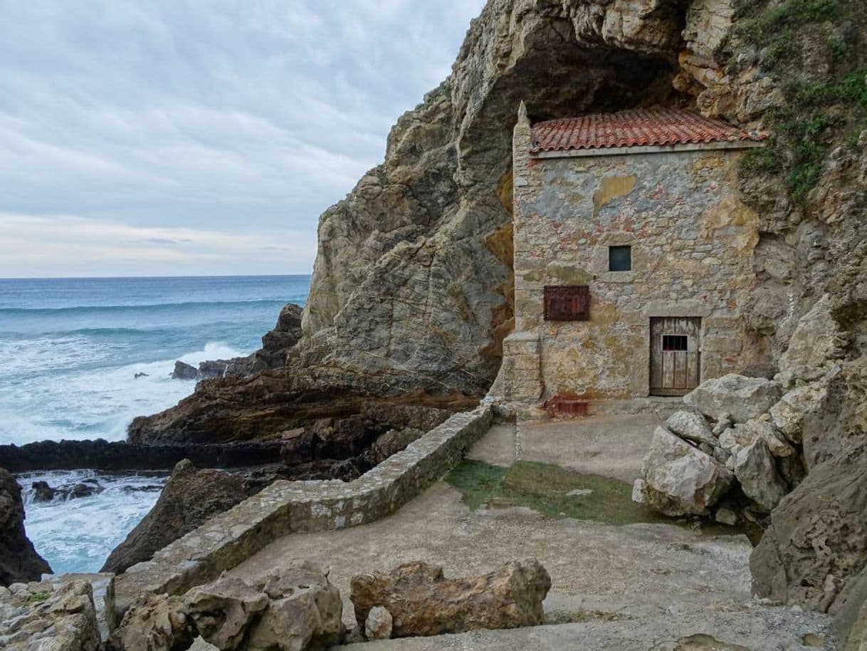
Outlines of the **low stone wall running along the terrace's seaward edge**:
<svg viewBox="0 0 867 651">
<path fill-rule="evenodd" d="M 349 483 L 272 483 L 118 576 L 118 615 L 142 592 L 182 594 L 282 536 L 344 529 L 388 516 L 452 468 L 492 418 L 487 404 L 455 414 Z"/>
</svg>

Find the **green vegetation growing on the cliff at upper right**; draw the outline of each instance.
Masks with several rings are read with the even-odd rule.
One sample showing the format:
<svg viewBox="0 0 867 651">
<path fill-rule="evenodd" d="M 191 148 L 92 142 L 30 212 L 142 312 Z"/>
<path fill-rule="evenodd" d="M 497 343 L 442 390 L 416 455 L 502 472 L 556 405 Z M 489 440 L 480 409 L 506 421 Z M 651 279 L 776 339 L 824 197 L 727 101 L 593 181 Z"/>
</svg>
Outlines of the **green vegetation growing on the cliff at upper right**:
<svg viewBox="0 0 867 651">
<path fill-rule="evenodd" d="M 858 0 L 745 0 L 735 36 L 759 51 L 759 65 L 786 97 L 773 109 L 770 148 L 744 159 L 748 171 L 785 173 L 802 203 L 838 146 L 855 147 L 867 128 L 864 4 Z M 737 69 L 733 51 L 730 69 Z"/>
</svg>

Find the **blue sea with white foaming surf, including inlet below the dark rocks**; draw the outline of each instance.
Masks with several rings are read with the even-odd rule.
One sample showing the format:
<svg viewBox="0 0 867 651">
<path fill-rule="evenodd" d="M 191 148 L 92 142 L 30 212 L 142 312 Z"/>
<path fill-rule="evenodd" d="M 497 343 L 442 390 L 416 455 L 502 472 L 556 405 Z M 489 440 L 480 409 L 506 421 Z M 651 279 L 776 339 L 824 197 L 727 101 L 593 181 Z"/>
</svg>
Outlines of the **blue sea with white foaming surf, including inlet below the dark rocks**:
<svg viewBox="0 0 867 651">
<path fill-rule="evenodd" d="M 189 395 L 177 359 L 245 355 L 310 276 L 0 279 L 0 444 L 120 441 L 136 416 Z M 55 573 L 95 572 L 159 496 L 165 473 L 28 473 L 25 528 Z M 94 496 L 36 502 L 35 481 L 89 480 Z"/>
</svg>

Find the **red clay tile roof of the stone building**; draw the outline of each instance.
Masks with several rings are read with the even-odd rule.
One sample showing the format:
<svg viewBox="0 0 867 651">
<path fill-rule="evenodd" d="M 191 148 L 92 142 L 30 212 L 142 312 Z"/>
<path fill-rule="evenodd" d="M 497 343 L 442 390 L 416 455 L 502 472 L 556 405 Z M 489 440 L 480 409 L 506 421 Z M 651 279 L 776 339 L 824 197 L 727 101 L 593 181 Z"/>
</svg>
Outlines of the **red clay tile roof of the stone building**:
<svg viewBox="0 0 867 651">
<path fill-rule="evenodd" d="M 766 138 L 680 109 L 637 109 L 583 115 L 538 122 L 532 129 L 533 154 L 569 149 L 760 141 Z"/>
</svg>

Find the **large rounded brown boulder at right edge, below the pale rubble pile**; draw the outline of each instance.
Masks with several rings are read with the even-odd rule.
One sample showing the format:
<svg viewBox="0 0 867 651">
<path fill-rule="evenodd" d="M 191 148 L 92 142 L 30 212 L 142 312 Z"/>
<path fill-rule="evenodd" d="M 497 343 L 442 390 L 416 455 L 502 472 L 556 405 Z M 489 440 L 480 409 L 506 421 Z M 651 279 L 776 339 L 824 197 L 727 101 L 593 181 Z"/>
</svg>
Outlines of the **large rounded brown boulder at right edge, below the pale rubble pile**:
<svg viewBox="0 0 867 651">
<path fill-rule="evenodd" d="M 815 466 L 772 511 L 750 557 L 753 592 L 836 613 L 867 566 L 867 444 Z"/>
</svg>

